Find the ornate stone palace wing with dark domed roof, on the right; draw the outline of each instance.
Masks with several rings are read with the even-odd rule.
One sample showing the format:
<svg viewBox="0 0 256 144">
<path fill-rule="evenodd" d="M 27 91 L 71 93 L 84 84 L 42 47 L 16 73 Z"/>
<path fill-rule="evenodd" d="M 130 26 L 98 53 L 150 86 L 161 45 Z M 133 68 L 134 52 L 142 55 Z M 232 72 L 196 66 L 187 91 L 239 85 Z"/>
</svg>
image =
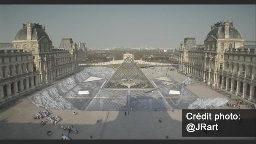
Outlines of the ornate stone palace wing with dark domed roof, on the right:
<svg viewBox="0 0 256 144">
<path fill-rule="evenodd" d="M 255 102 L 255 57 L 255 42 L 245 41 L 233 22 L 218 22 L 204 45 L 197 45 L 195 38 L 180 43 L 179 71 Z"/>
</svg>

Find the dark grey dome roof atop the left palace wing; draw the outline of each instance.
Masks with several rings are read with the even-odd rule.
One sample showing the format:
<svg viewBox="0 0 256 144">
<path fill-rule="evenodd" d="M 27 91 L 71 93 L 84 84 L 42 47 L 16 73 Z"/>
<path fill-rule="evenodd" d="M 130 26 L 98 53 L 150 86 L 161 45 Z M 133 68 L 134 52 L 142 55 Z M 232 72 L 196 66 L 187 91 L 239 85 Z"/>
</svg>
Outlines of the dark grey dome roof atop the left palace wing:
<svg viewBox="0 0 256 144">
<path fill-rule="evenodd" d="M 44 26 L 39 24 L 31 24 L 32 26 L 32 40 L 39 40 L 43 36 L 46 36 L 49 38 L 48 34 L 44 30 Z M 19 32 L 15 36 L 15 40 L 27 40 L 27 27 L 26 24 L 23 24 L 23 28 L 19 30 Z"/>
</svg>

